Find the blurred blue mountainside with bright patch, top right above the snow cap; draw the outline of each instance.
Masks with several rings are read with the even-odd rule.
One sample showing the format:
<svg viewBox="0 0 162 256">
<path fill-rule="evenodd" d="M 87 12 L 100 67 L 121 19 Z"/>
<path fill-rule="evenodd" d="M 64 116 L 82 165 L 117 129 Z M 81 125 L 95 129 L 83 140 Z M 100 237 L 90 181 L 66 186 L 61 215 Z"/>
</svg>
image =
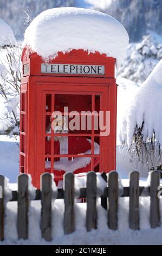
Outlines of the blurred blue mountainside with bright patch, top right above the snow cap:
<svg viewBox="0 0 162 256">
<path fill-rule="evenodd" d="M 127 29 L 132 42 L 139 41 L 147 31 L 155 31 L 162 35 L 161 0 L 102 0 L 97 1 L 98 3 L 95 0 L 87 0 L 86 2 L 93 4 L 94 9 L 119 20 Z"/>
</svg>

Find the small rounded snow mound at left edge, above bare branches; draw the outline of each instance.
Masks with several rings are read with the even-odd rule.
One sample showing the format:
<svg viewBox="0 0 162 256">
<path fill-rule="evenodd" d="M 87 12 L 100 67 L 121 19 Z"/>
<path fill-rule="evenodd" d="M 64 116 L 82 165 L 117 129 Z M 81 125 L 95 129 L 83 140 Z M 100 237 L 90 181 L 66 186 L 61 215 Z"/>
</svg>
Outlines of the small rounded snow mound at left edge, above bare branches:
<svg viewBox="0 0 162 256">
<path fill-rule="evenodd" d="M 9 25 L 0 19 L 0 46 L 15 45 L 16 39 Z"/>
</svg>

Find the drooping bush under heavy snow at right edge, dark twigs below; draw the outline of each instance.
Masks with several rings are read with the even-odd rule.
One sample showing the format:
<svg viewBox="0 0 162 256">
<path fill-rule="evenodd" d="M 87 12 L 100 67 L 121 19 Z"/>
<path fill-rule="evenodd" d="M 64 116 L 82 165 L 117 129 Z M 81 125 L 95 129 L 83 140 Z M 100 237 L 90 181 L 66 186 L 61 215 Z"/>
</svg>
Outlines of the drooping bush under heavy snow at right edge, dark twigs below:
<svg viewBox="0 0 162 256">
<path fill-rule="evenodd" d="M 162 161 L 162 60 L 135 93 L 121 122 L 120 139 L 132 159 L 157 168 Z"/>
</svg>

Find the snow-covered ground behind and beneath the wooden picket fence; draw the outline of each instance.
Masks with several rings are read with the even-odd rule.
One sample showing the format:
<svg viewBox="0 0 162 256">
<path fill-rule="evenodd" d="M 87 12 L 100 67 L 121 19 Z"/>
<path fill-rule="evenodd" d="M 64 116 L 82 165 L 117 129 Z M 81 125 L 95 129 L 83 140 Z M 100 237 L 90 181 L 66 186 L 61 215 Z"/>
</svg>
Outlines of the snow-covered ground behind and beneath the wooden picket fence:
<svg viewBox="0 0 162 256">
<path fill-rule="evenodd" d="M 122 185 L 128 186 L 128 173 L 133 170 L 133 166 L 121 154 L 117 148 L 117 164 L 121 174 Z M 10 179 L 9 187 L 17 190 L 19 149 L 14 142 L 14 138 L 0 136 L 0 173 Z M 141 177 L 147 176 L 147 172 Z M 78 182 L 78 180 L 76 180 Z M 99 186 L 102 186 L 99 180 Z M 140 178 L 140 186 L 145 186 L 146 178 Z M 77 185 L 78 186 L 78 185 Z M 142 201 L 143 200 L 143 201 Z M 145 200 L 145 201 L 144 201 Z M 41 240 L 40 216 L 41 202 L 32 201 L 29 211 L 29 240 L 17 240 L 17 202 L 8 202 L 5 213 L 5 241 L 0 245 L 143 245 L 161 244 L 162 228 L 150 229 L 149 224 L 149 203 L 148 200 L 141 199 L 140 204 L 140 231 L 132 231 L 128 228 L 128 198 L 120 198 L 119 201 L 119 230 L 112 231 L 107 228 L 107 212 L 98 203 L 98 229 L 87 233 L 85 227 L 86 204 L 81 203 L 75 206 L 76 231 L 73 234 L 64 236 L 63 231 L 63 210 L 62 199 L 53 202 L 53 240 L 46 242 Z M 162 208 L 161 208 L 162 209 Z M 162 211 L 161 211 L 162 215 Z"/>
</svg>

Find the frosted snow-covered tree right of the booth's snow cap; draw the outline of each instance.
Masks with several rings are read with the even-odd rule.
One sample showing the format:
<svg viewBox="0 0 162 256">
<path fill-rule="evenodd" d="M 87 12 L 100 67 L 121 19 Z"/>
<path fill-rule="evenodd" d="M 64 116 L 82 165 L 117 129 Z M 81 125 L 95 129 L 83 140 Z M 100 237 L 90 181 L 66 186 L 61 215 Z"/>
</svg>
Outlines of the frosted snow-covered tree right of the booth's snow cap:
<svg viewBox="0 0 162 256">
<path fill-rule="evenodd" d="M 160 36 L 145 35 L 138 44 L 129 44 L 118 75 L 134 82 L 142 83 L 159 62 Z"/>
</svg>

